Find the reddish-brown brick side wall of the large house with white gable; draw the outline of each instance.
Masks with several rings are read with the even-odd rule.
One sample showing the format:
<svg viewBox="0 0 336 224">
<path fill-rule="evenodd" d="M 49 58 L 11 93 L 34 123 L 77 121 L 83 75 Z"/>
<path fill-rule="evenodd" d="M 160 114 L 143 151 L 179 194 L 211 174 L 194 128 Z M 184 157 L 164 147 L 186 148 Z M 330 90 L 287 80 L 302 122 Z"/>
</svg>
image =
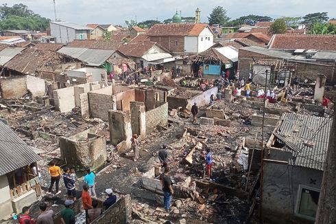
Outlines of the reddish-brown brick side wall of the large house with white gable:
<svg viewBox="0 0 336 224">
<path fill-rule="evenodd" d="M 184 53 L 184 36 L 149 36 L 149 39 L 165 47 L 171 53 Z M 176 41 L 178 41 L 178 46 L 176 46 Z"/>
</svg>

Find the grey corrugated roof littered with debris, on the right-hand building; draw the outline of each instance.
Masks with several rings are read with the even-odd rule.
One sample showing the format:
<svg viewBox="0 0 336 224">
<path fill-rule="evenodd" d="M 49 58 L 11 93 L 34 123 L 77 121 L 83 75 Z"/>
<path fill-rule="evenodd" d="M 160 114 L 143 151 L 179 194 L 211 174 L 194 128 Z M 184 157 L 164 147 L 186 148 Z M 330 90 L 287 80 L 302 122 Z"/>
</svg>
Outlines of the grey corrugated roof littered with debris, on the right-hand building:
<svg viewBox="0 0 336 224">
<path fill-rule="evenodd" d="M 285 113 L 281 119 L 283 123 L 278 129 L 278 134 L 286 142 L 296 146 L 296 149 L 300 149 L 289 149 L 293 157 L 296 157 L 295 161 L 291 159 L 289 164 L 323 170 L 333 120 L 327 117 L 295 113 Z M 309 139 L 313 147 L 306 145 Z"/>
</svg>

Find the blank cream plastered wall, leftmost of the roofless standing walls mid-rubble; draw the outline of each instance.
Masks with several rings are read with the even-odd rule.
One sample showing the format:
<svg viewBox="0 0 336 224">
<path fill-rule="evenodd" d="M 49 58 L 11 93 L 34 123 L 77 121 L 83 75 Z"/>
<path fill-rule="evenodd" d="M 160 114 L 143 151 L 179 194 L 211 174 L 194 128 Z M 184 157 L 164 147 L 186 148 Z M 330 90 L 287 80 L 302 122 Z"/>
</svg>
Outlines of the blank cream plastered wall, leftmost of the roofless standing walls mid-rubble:
<svg viewBox="0 0 336 224">
<path fill-rule="evenodd" d="M 61 113 L 69 112 L 75 107 L 75 89 L 67 87 L 53 91 L 55 109 Z"/>
</svg>

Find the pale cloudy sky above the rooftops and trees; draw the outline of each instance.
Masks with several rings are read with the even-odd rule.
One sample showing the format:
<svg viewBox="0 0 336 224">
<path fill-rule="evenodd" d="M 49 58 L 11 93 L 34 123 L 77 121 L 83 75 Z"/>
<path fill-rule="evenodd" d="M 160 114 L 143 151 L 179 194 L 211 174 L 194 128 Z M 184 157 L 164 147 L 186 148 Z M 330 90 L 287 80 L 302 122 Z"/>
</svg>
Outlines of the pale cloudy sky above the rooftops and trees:
<svg viewBox="0 0 336 224">
<path fill-rule="evenodd" d="M 54 19 L 53 0 L 4 0 L 8 5 L 23 3 L 30 10 Z M 182 16 L 194 16 L 195 9 L 201 9 L 201 21 L 207 22 L 207 16 L 217 5 L 228 11 L 228 16 L 237 18 L 248 14 L 280 16 L 302 16 L 312 12 L 329 12 L 336 17 L 335 0 L 240 0 L 240 1 L 204 1 L 204 0 L 56 0 L 58 19 L 73 23 L 112 23 L 125 25 L 125 20 L 171 18 L 176 9 Z"/>
</svg>

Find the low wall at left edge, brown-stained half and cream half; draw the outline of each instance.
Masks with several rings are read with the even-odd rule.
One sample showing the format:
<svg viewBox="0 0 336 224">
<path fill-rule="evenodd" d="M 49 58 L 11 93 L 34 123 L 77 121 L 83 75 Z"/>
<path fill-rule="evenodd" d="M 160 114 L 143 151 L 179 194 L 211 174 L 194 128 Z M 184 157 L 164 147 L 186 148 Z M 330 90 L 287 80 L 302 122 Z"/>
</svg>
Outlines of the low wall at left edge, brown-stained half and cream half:
<svg viewBox="0 0 336 224">
<path fill-rule="evenodd" d="M 0 89 L 3 99 L 22 98 L 28 91 L 35 98 L 45 96 L 46 84 L 45 80 L 35 76 L 16 76 L 1 78 Z"/>
</svg>

